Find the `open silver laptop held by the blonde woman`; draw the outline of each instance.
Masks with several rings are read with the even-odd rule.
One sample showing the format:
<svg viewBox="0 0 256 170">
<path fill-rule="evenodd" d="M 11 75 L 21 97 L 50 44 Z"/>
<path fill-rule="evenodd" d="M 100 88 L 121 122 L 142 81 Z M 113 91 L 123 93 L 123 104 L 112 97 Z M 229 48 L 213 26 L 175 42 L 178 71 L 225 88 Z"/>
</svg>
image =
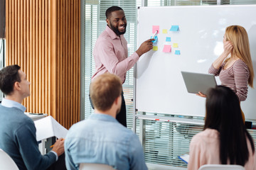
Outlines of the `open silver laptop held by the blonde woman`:
<svg viewBox="0 0 256 170">
<path fill-rule="evenodd" d="M 181 71 L 183 80 L 186 84 L 188 93 L 198 94 L 201 91 L 203 94 L 207 94 L 208 89 L 215 88 L 216 80 L 213 74 L 202 74 L 194 72 Z"/>
</svg>

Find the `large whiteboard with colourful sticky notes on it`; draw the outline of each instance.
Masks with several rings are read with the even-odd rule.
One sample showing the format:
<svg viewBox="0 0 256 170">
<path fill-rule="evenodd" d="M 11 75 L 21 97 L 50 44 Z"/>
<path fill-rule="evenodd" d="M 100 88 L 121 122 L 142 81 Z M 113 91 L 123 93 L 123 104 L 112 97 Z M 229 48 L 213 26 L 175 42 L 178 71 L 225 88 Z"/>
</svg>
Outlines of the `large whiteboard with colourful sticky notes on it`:
<svg viewBox="0 0 256 170">
<path fill-rule="evenodd" d="M 256 6 L 164 6 L 138 8 L 138 47 L 159 26 L 157 51 L 140 57 L 136 67 L 135 107 L 138 111 L 204 116 L 206 98 L 188 94 L 181 76 L 186 72 L 208 73 L 223 52 L 223 35 L 230 25 L 243 26 L 249 35 L 256 70 Z M 169 31 L 178 26 L 178 31 Z M 167 29 L 167 33 L 163 33 Z M 171 42 L 166 42 L 166 37 Z M 178 47 L 173 47 L 178 43 Z M 171 45 L 171 52 L 163 52 Z M 175 54 L 180 50 L 180 55 Z M 255 72 L 256 75 L 256 72 Z M 256 86 L 256 81 L 254 80 Z M 256 119 L 256 90 L 248 89 L 241 103 L 246 119 Z"/>
</svg>

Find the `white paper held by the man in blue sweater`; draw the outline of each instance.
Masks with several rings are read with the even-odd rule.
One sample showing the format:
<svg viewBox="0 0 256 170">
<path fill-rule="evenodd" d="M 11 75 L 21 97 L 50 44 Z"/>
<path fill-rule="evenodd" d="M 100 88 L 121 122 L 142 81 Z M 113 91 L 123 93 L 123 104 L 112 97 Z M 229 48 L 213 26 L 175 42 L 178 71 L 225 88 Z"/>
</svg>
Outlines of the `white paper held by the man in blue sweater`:
<svg viewBox="0 0 256 170">
<path fill-rule="evenodd" d="M 47 116 L 40 120 L 36 120 L 36 140 L 41 141 L 49 137 L 63 137 L 68 133 L 68 130 L 58 123 L 52 116 Z"/>
</svg>

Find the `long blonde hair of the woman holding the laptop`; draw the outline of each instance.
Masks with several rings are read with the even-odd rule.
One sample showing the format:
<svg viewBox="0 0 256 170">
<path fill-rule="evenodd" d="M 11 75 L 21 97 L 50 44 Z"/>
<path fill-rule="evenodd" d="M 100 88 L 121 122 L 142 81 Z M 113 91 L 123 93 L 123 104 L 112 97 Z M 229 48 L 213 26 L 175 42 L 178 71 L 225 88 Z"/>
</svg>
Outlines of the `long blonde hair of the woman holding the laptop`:
<svg viewBox="0 0 256 170">
<path fill-rule="evenodd" d="M 253 88 L 254 72 L 252 67 L 252 58 L 250 55 L 250 45 L 247 32 L 242 26 L 229 26 L 225 29 L 226 40 L 233 44 L 233 51 L 231 54 L 240 58 L 247 64 L 250 71 L 248 84 Z"/>
</svg>

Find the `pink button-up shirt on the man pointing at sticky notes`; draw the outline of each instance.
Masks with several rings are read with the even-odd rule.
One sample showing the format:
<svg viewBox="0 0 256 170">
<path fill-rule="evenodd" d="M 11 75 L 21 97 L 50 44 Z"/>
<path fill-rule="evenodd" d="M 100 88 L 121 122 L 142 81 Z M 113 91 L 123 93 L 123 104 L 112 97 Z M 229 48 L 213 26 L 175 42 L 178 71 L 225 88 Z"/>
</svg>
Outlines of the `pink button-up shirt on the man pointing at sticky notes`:
<svg viewBox="0 0 256 170">
<path fill-rule="evenodd" d="M 92 79 L 105 72 L 110 72 L 116 74 L 122 83 L 125 81 L 127 71 L 139 60 L 139 55 L 136 52 L 128 57 L 127 40 L 124 35 L 117 36 L 108 26 L 97 39 L 93 57 L 96 68 Z"/>
</svg>

